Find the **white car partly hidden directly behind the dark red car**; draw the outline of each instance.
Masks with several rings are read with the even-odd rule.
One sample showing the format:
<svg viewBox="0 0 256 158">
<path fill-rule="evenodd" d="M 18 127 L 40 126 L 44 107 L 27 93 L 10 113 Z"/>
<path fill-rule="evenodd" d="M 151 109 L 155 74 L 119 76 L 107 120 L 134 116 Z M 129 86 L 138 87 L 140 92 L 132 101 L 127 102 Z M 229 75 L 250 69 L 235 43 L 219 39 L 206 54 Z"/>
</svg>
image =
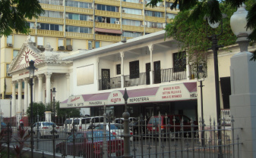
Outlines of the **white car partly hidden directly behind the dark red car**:
<svg viewBox="0 0 256 158">
<path fill-rule="evenodd" d="M 94 129 L 103 129 L 104 125 L 103 124 L 98 124 L 94 127 Z M 109 124 L 106 125 L 106 131 L 112 133 L 112 135 L 115 135 L 117 138 L 122 138 L 122 135 L 124 134 L 124 125 L 119 124 L 119 123 L 110 123 L 110 128 Z M 133 140 L 132 132 L 130 130 L 130 141 Z"/>
</svg>

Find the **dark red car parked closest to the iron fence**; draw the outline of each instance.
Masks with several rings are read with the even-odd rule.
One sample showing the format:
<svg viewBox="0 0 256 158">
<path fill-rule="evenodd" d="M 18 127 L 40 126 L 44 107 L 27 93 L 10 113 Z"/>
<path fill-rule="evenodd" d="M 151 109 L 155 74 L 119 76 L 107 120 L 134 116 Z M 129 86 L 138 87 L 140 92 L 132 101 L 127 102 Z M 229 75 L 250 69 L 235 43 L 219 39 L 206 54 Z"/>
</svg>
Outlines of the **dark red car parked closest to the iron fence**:
<svg viewBox="0 0 256 158">
<path fill-rule="evenodd" d="M 75 138 L 75 144 L 73 139 Z M 103 130 L 87 130 L 76 132 L 68 136 L 67 141 L 56 145 L 56 152 L 62 155 L 84 156 L 100 158 L 103 153 Z M 108 157 L 122 156 L 124 154 L 124 141 L 114 135 L 106 135 Z M 75 147 L 74 147 L 75 145 Z"/>
</svg>

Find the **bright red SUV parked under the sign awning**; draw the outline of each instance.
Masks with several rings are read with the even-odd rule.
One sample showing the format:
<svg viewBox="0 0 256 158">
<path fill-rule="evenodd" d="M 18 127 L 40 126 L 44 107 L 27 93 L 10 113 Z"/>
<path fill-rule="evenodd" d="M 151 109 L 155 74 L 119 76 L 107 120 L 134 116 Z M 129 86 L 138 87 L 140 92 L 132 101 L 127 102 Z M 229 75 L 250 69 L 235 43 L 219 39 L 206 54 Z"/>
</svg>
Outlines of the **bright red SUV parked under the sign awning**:
<svg viewBox="0 0 256 158">
<path fill-rule="evenodd" d="M 180 132 L 183 119 L 183 131 L 191 131 L 191 119 L 185 115 L 151 116 L 147 123 L 147 130 L 150 133 Z M 175 120 L 175 121 L 173 121 Z M 160 127 L 160 129 L 159 129 Z M 194 121 L 194 131 L 198 130 L 198 122 Z"/>
</svg>

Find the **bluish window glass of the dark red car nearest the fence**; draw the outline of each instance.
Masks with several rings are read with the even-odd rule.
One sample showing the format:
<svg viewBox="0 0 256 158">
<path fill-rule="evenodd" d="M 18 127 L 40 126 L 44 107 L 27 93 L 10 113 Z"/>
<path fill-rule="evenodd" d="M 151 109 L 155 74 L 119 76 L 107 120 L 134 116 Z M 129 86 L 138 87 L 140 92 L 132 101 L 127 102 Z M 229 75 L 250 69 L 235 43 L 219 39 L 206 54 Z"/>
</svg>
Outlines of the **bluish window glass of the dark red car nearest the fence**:
<svg viewBox="0 0 256 158">
<path fill-rule="evenodd" d="M 93 138 L 93 139 L 92 139 Z M 103 141 L 103 131 L 94 131 L 94 132 L 87 132 L 87 140 L 88 141 Z M 109 133 L 106 133 L 106 139 L 107 141 L 113 140 L 115 139 L 115 136 L 112 135 L 112 133 L 110 133 L 110 137 L 109 137 Z"/>
</svg>

